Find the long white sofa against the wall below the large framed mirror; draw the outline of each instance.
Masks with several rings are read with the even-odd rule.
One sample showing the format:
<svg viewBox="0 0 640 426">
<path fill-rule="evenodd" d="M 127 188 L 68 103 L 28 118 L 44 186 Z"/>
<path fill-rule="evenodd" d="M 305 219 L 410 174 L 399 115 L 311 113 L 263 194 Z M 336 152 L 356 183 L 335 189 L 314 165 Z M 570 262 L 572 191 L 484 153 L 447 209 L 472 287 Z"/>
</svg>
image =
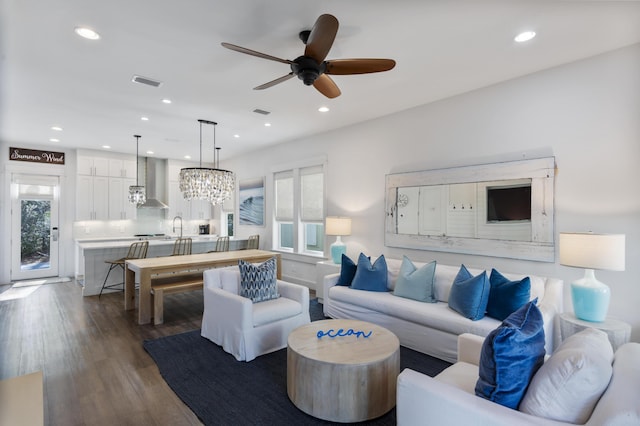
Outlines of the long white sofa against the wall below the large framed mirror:
<svg viewBox="0 0 640 426">
<path fill-rule="evenodd" d="M 336 286 L 340 274 L 324 278 L 324 314 L 331 318 L 350 318 L 369 321 L 391 330 L 400 344 L 436 358 L 456 362 L 457 338 L 462 333 L 486 337 L 501 321 L 485 316 L 471 321 L 450 309 L 447 301 L 453 280 L 460 265 L 437 264 L 435 272 L 435 296 L 437 303 L 418 302 L 394 296 L 393 290 L 402 261 L 386 259 L 389 292 L 354 290 Z M 414 262 L 416 267 L 424 263 Z M 477 275 L 480 269 L 469 268 Z M 490 273 L 491 269 L 487 270 Z M 502 271 L 500 271 L 502 273 Z M 562 280 L 525 274 L 503 275 L 510 280 L 531 279 L 531 299 L 538 298 L 538 307 L 544 318 L 545 349 L 551 353 L 555 336 L 559 336 L 555 316 L 563 310 Z"/>
</svg>

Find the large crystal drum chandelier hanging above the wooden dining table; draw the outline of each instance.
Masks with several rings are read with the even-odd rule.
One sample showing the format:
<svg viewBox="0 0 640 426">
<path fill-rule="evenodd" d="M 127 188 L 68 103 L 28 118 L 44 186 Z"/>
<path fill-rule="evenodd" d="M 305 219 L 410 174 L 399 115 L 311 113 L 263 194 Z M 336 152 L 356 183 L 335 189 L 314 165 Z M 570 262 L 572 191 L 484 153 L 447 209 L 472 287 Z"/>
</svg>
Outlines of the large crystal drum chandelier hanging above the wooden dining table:
<svg viewBox="0 0 640 426">
<path fill-rule="evenodd" d="M 180 170 L 180 191 L 186 200 L 207 200 L 214 206 L 231 197 L 236 178 L 233 172 L 219 168 L 220 148 L 216 147 L 216 125 L 214 121 L 198 120 L 200 123 L 200 167 Z M 202 125 L 213 125 L 213 165 L 202 167 Z"/>
</svg>

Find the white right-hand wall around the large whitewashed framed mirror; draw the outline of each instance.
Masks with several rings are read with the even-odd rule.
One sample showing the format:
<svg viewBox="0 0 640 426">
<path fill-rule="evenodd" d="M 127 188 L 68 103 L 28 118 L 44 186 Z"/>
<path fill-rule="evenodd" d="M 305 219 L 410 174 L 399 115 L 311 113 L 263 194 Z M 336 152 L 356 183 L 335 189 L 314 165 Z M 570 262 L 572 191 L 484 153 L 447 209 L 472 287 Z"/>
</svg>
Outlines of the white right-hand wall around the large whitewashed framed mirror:
<svg viewBox="0 0 640 426">
<path fill-rule="evenodd" d="M 640 45 L 281 144 L 224 166 L 239 179 L 267 176 L 270 224 L 272 167 L 319 155 L 328 158 L 327 213 L 353 218 L 352 235 L 344 238 L 350 256 L 408 254 L 555 276 L 565 281 L 565 308 L 571 311 L 568 284 L 582 276 L 579 269 L 384 246 L 386 174 L 555 156 L 556 235 L 626 234 L 626 271 L 597 276 L 612 289 L 609 315 L 631 323 L 632 340 L 640 341 Z M 240 235 L 251 231 L 238 229 Z M 270 229 L 263 232 L 269 247 Z"/>
</svg>

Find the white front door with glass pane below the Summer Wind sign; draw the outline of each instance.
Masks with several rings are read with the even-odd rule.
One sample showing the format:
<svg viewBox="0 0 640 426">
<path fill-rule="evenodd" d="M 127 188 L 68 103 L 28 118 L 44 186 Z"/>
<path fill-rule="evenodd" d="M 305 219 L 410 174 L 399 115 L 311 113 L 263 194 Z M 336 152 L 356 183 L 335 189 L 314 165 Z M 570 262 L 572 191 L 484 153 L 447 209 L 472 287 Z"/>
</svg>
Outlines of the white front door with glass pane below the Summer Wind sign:
<svg viewBox="0 0 640 426">
<path fill-rule="evenodd" d="M 14 176 L 11 280 L 58 276 L 58 178 Z"/>
</svg>

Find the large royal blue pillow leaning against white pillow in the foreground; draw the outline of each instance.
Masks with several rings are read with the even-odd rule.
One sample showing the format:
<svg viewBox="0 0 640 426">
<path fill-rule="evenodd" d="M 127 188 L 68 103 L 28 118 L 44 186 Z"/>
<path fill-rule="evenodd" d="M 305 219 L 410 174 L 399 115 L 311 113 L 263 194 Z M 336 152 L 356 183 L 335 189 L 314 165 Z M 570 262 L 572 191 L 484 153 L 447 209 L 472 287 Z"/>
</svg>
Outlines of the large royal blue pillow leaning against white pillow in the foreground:
<svg viewBox="0 0 640 426">
<path fill-rule="evenodd" d="M 493 330 L 480 353 L 476 395 L 518 409 L 533 375 L 544 362 L 544 328 L 537 299 Z"/>
</svg>

